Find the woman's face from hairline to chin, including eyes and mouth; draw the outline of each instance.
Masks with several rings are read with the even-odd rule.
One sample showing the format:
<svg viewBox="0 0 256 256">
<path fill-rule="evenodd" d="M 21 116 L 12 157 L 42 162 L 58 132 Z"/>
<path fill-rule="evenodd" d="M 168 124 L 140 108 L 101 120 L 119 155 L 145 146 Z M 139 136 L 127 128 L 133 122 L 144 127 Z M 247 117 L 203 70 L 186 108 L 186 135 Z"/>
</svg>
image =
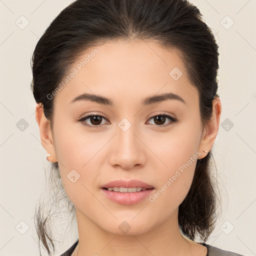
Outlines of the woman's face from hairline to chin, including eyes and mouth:
<svg viewBox="0 0 256 256">
<path fill-rule="evenodd" d="M 47 149 L 56 156 L 77 220 L 116 234 L 176 220 L 196 159 L 217 132 L 202 136 L 198 92 L 176 51 L 152 41 L 109 41 L 81 54 L 59 88 L 52 94 L 53 144 Z M 102 188 L 120 179 L 153 189 Z"/>
</svg>

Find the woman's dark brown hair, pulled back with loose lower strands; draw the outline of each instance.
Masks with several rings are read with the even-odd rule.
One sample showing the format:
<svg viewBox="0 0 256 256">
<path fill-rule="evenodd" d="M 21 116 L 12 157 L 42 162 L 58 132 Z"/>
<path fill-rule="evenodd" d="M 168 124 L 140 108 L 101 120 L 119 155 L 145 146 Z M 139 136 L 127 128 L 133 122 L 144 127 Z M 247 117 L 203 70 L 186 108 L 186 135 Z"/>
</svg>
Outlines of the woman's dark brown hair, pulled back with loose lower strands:
<svg viewBox="0 0 256 256">
<path fill-rule="evenodd" d="M 50 94 L 68 73 L 81 52 L 108 40 L 153 40 L 176 49 L 199 96 L 203 126 L 210 120 L 212 100 L 217 95 L 218 45 L 211 29 L 203 22 L 198 8 L 187 0 L 76 0 L 50 23 L 32 55 L 31 89 L 44 114 L 53 123 L 53 99 Z M 178 209 L 178 222 L 184 235 L 206 241 L 216 220 L 216 194 L 210 175 L 209 152 L 197 159 L 191 187 Z M 51 182 L 57 184 L 68 201 L 60 180 L 58 163 L 52 163 Z M 52 186 L 56 187 L 56 186 Z M 57 193 L 57 190 L 56 190 Z M 49 215 L 39 206 L 35 225 L 48 254 L 54 251 Z M 40 245 L 39 245 L 40 247 Z"/>
</svg>

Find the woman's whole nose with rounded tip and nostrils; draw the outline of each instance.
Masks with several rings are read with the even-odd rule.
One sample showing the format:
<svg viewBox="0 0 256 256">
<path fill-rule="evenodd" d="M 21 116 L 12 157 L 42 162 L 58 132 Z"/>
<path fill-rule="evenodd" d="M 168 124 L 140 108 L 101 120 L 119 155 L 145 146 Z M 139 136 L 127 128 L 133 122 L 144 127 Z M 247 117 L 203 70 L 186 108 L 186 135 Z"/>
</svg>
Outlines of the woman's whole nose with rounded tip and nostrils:
<svg viewBox="0 0 256 256">
<path fill-rule="evenodd" d="M 126 170 L 143 166 L 146 160 L 145 145 L 138 131 L 134 130 L 133 125 L 126 131 L 117 126 L 116 133 L 110 148 L 110 164 Z"/>
</svg>

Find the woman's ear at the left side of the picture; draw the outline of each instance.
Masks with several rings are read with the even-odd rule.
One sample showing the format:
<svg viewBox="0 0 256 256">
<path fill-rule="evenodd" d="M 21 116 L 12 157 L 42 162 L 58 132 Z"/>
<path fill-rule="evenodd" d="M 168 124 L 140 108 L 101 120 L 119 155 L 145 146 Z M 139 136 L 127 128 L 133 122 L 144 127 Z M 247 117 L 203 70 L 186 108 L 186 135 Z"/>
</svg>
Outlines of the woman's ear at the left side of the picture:
<svg viewBox="0 0 256 256">
<path fill-rule="evenodd" d="M 46 150 L 47 154 L 50 154 L 50 156 L 47 157 L 47 160 L 56 162 L 57 158 L 52 138 L 52 131 L 50 128 L 50 121 L 45 117 L 41 103 L 36 104 L 35 119 L 39 126 L 41 144 Z"/>
</svg>

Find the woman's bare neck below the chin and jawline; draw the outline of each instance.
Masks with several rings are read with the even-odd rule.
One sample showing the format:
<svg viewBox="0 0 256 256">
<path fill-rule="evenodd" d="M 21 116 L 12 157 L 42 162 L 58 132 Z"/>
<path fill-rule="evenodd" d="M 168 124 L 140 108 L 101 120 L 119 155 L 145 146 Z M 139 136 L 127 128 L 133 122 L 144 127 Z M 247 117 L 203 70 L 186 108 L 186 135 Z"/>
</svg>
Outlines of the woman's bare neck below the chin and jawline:
<svg viewBox="0 0 256 256">
<path fill-rule="evenodd" d="M 205 247 L 181 235 L 178 227 L 177 210 L 160 225 L 156 225 L 142 234 L 116 234 L 108 232 L 76 210 L 79 242 L 73 255 L 104 255 L 104 256 L 131 256 L 154 255 L 176 256 L 193 255 L 200 247 Z M 77 251 L 78 249 L 78 251 Z M 78 254 L 77 254 L 78 252 Z M 201 256 L 206 255 L 202 253 Z"/>
</svg>

